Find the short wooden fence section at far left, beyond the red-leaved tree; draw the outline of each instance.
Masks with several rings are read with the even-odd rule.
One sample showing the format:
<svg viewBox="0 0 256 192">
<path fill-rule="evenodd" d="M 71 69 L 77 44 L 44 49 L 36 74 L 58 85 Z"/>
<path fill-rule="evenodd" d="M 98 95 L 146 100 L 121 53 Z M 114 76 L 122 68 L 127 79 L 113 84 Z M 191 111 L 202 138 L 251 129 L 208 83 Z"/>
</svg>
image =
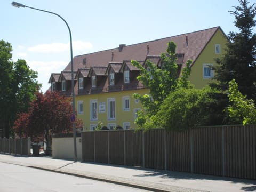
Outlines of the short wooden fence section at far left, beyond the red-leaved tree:
<svg viewBox="0 0 256 192">
<path fill-rule="evenodd" d="M 0 138 L 0 153 L 30 156 L 30 138 Z"/>
</svg>

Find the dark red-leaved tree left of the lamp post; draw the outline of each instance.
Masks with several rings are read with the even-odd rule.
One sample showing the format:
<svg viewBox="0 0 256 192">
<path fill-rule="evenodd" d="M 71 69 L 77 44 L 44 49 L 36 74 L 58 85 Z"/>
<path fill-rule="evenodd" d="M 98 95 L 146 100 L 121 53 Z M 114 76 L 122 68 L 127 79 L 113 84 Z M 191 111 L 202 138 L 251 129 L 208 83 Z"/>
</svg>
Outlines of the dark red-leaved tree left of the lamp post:
<svg viewBox="0 0 256 192">
<path fill-rule="evenodd" d="M 58 92 L 37 93 L 27 113 L 19 114 L 14 122 L 14 131 L 19 136 L 31 137 L 32 141 L 46 142 L 46 154 L 51 154 L 52 135 L 54 133 L 73 132 L 70 116 L 73 113 L 70 98 Z M 76 119 L 79 128 L 82 121 Z"/>
</svg>

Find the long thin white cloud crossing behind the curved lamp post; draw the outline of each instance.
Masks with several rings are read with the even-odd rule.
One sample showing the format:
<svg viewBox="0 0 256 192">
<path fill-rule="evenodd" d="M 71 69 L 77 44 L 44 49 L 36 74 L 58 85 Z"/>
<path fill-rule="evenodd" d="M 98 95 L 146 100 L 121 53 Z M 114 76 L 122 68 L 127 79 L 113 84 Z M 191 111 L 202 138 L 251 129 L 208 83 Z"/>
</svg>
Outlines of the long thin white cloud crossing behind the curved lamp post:
<svg viewBox="0 0 256 192">
<path fill-rule="evenodd" d="M 73 50 L 84 50 L 90 49 L 92 44 L 90 42 L 83 41 L 74 41 L 72 42 Z M 30 52 L 39 52 L 39 53 L 57 53 L 57 52 L 66 52 L 70 50 L 69 43 L 51 43 L 51 44 L 40 44 L 33 47 L 29 47 L 28 51 Z"/>
</svg>

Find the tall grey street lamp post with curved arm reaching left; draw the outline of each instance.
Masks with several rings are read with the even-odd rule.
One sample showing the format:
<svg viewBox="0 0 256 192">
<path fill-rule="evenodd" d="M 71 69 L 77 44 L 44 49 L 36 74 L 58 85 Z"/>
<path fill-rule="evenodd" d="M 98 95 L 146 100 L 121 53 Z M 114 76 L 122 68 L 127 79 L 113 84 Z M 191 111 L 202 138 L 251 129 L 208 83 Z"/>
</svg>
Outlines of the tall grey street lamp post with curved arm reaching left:
<svg viewBox="0 0 256 192">
<path fill-rule="evenodd" d="M 65 19 L 63 19 L 60 15 L 58 15 L 57 13 L 53 13 L 53 12 L 50 12 L 50 11 L 45 11 L 45 10 L 41 10 L 41 9 L 37 9 L 37 8 L 34 8 L 34 7 L 29 7 L 29 6 L 26 6 L 26 5 L 23 5 L 21 3 L 17 3 L 17 2 L 12 2 L 12 6 L 15 6 L 15 7 L 27 7 L 27 8 L 30 8 L 30 9 L 34 9 L 34 10 L 37 10 L 37 11 L 43 11 L 43 12 L 46 12 L 46 13 L 51 13 L 51 14 L 54 14 L 54 15 L 57 15 L 60 19 L 62 19 L 67 27 L 68 27 L 68 31 L 69 31 L 69 37 L 70 37 L 70 58 L 71 58 L 71 89 L 72 89 L 72 111 L 73 111 L 73 116 L 70 117 L 70 118 L 73 118 L 71 121 L 75 120 L 74 117 L 75 117 L 75 93 L 74 93 L 74 66 L 73 66 L 73 50 L 72 50 L 72 36 L 71 36 L 71 31 L 70 31 L 70 28 L 68 26 L 68 23 L 65 21 Z M 77 153 L 76 153 L 76 124 L 75 122 L 73 121 L 73 139 L 74 139 L 74 162 L 77 161 Z"/>
</svg>

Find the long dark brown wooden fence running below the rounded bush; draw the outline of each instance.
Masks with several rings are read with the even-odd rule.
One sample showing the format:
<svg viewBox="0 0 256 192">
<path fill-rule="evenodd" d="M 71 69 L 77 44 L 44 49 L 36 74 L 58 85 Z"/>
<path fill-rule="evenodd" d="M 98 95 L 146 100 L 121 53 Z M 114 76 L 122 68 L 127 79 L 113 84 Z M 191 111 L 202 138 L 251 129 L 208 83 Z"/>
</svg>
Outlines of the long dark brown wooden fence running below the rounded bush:
<svg viewBox="0 0 256 192">
<path fill-rule="evenodd" d="M 82 132 L 82 159 L 256 179 L 256 126 Z"/>
</svg>

